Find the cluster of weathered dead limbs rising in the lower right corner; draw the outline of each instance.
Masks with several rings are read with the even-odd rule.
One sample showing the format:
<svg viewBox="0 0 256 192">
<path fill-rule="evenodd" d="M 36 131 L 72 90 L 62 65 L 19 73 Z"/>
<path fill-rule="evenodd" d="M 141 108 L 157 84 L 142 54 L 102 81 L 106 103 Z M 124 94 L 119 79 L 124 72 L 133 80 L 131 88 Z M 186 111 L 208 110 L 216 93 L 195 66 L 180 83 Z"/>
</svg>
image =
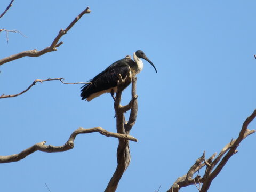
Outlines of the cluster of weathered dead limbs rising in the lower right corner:
<svg viewBox="0 0 256 192">
<path fill-rule="evenodd" d="M 178 192 L 181 187 L 186 187 L 188 185 L 196 185 L 199 184 L 199 186 L 202 185 L 202 187 L 198 188 L 200 192 L 206 192 L 213 179 L 217 177 L 217 175 L 220 173 L 222 168 L 226 165 L 229 158 L 237 153 L 237 147 L 242 142 L 243 139 L 245 139 L 250 134 L 255 133 L 255 130 L 249 130 L 247 129 L 248 125 L 253 121 L 253 119 L 256 117 L 256 110 L 253 111 L 253 113 L 244 121 L 241 131 L 239 132 L 237 139 L 232 139 L 223 149 L 220 151 L 219 155 L 214 159 L 214 157 L 217 155 L 217 153 L 214 153 L 209 159 L 205 159 L 205 153 L 202 157 L 198 158 L 196 163 L 191 166 L 188 173 L 186 175 L 183 175 L 182 177 L 179 177 L 172 187 L 167 190 L 167 192 L 176 191 Z M 226 155 L 225 155 L 226 154 Z M 224 156 L 225 155 L 225 156 Z M 214 161 L 213 161 L 214 159 Z M 204 163 L 203 163 L 204 162 Z M 204 166 L 206 166 L 205 172 L 203 177 L 200 175 L 197 175 L 193 179 L 193 175 L 202 169 Z"/>
</svg>

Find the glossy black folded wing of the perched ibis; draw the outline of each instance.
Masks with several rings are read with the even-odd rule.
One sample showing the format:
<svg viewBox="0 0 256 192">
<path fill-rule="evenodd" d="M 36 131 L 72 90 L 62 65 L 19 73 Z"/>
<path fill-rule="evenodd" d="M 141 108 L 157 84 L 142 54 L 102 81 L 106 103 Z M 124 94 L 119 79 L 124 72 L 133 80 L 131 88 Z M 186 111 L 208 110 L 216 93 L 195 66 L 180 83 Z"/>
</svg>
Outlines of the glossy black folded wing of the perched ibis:
<svg viewBox="0 0 256 192">
<path fill-rule="evenodd" d="M 103 90 L 108 90 L 117 86 L 118 75 L 121 74 L 122 78 L 125 78 L 130 71 L 129 64 L 134 62 L 131 59 L 121 59 L 114 62 L 107 69 L 95 76 L 89 82 L 92 84 L 86 84 L 82 86 L 81 97 L 82 100 L 88 98 L 91 94 L 97 93 Z"/>
</svg>

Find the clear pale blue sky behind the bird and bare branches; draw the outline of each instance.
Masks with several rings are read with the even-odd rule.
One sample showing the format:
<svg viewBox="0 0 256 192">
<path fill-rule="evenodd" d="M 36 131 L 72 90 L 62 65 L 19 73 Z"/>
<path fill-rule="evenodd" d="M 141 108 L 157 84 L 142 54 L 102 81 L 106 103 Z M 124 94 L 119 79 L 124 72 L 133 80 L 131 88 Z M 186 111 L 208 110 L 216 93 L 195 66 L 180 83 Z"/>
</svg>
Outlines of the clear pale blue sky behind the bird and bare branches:
<svg viewBox="0 0 256 192">
<path fill-rule="evenodd" d="M 5 10 L 10 0 L 0 2 Z M 256 108 L 255 1 L 14 1 L 0 19 L 0 57 L 50 46 L 61 28 L 90 6 L 61 39 L 57 52 L 0 67 L 0 94 L 25 90 L 35 79 L 85 82 L 111 63 L 143 50 L 138 75 L 138 117 L 131 135 L 131 164 L 117 191 L 166 191 L 206 152 L 236 138 Z M 37 83 L 25 94 L 0 100 L 0 155 L 46 140 L 63 145 L 78 127 L 116 132 L 113 99 L 81 101 L 81 85 Z M 130 100 L 128 87 L 122 103 Z M 128 115 L 128 114 L 127 114 Z M 255 128 L 256 123 L 250 125 Z M 209 191 L 255 191 L 255 138 L 213 180 Z M 103 191 L 116 169 L 118 140 L 78 135 L 64 153 L 36 153 L 1 164 L 0 191 Z M 199 173 L 203 174 L 203 172 Z M 181 189 L 197 191 L 195 186 Z"/>
</svg>

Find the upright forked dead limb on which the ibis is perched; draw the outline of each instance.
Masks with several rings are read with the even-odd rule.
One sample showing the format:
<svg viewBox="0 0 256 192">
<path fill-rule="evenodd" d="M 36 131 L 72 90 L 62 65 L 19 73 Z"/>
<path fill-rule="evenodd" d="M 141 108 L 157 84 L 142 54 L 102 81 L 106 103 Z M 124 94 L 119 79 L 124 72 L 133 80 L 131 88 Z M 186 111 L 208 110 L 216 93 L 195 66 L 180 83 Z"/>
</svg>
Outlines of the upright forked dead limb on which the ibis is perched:
<svg viewBox="0 0 256 192">
<path fill-rule="evenodd" d="M 127 106 L 121 106 L 121 95 L 124 90 L 123 85 L 125 85 L 126 81 L 132 81 L 132 99 Z M 136 95 L 136 77 L 126 76 L 125 79 L 122 79 L 122 76 L 119 76 L 119 81 L 117 83 L 117 93 L 115 99 L 115 111 L 116 111 L 116 129 L 117 133 L 128 135 L 132 126 L 135 124 L 137 117 L 137 95 Z M 131 109 L 129 121 L 125 123 L 124 113 L 126 110 Z M 124 171 L 130 164 L 130 148 L 129 141 L 124 139 L 118 139 L 119 144 L 117 148 L 117 167 L 114 172 L 112 178 L 110 179 L 105 192 L 113 192 L 116 191 L 118 183 L 122 178 Z"/>
</svg>

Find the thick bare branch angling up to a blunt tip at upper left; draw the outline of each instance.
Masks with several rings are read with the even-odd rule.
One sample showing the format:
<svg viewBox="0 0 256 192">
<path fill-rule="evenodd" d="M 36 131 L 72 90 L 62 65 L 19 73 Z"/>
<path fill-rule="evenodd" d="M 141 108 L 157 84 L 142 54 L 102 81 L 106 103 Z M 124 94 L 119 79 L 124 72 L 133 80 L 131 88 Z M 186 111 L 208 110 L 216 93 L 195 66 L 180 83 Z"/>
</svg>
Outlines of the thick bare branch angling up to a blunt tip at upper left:
<svg viewBox="0 0 256 192">
<path fill-rule="evenodd" d="M 69 29 L 71 29 L 71 27 L 73 27 L 75 25 L 75 23 L 86 13 L 90 13 L 91 10 L 89 10 L 89 7 L 87 7 L 84 11 L 82 11 L 70 24 L 69 26 L 66 28 L 66 29 L 61 29 L 59 31 L 59 34 L 54 38 L 51 46 L 49 47 L 46 47 L 45 49 L 41 50 L 41 51 L 37 51 L 36 49 L 34 50 L 28 50 L 28 51 L 23 51 L 23 52 L 20 52 L 18 54 L 14 54 L 14 55 L 11 55 L 9 57 L 6 57 L 6 58 L 3 58 L 3 59 L 0 59 L 0 65 L 3 65 L 4 63 L 6 62 L 10 62 L 10 61 L 13 61 L 15 59 L 19 59 L 19 58 L 22 58 L 22 57 L 39 57 L 45 53 L 49 53 L 49 52 L 52 52 L 52 51 L 57 51 L 57 47 L 59 47 L 61 44 L 63 44 L 63 42 L 59 42 L 60 38 L 65 35 Z M 59 42 L 59 43 L 58 43 Z"/>
</svg>

